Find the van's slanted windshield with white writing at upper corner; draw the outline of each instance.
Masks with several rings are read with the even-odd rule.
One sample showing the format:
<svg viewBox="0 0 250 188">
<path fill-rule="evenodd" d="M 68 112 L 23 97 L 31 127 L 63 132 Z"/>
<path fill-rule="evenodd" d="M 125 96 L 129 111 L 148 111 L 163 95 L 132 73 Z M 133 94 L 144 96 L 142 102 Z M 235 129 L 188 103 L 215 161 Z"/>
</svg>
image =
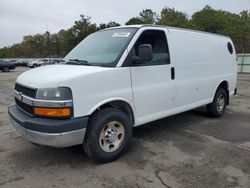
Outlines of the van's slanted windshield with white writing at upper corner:
<svg viewBox="0 0 250 188">
<path fill-rule="evenodd" d="M 114 67 L 136 30 L 136 28 L 118 28 L 93 33 L 64 58 L 66 64 L 78 60 L 89 65 Z"/>
</svg>

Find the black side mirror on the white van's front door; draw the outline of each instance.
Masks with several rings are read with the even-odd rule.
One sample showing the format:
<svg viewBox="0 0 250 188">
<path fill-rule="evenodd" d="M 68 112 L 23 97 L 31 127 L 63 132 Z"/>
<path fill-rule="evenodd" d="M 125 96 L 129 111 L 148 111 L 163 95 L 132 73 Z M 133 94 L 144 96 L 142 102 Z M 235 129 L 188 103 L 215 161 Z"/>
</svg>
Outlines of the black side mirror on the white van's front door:
<svg viewBox="0 0 250 188">
<path fill-rule="evenodd" d="M 151 44 L 141 44 L 138 49 L 138 56 L 133 57 L 135 64 L 145 63 L 153 59 Z"/>
</svg>

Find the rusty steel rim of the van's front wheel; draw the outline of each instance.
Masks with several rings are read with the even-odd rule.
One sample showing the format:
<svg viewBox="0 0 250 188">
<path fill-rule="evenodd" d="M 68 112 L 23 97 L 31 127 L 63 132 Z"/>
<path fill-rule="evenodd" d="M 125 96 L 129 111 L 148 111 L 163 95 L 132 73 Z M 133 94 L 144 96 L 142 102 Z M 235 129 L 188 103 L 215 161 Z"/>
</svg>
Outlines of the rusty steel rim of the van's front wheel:
<svg viewBox="0 0 250 188">
<path fill-rule="evenodd" d="M 125 129 L 123 124 L 118 121 L 111 121 L 102 129 L 99 144 L 103 151 L 114 152 L 122 145 L 124 138 Z"/>
</svg>

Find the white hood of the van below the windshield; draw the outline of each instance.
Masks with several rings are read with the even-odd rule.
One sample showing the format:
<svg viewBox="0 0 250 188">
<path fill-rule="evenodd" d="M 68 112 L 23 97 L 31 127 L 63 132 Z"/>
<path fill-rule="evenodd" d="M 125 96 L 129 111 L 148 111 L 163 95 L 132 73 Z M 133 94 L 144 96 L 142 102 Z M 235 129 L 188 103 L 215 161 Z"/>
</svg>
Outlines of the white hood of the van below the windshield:
<svg viewBox="0 0 250 188">
<path fill-rule="evenodd" d="M 84 65 L 47 65 L 22 73 L 17 78 L 17 82 L 32 88 L 58 87 L 64 81 L 108 69 Z"/>
</svg>

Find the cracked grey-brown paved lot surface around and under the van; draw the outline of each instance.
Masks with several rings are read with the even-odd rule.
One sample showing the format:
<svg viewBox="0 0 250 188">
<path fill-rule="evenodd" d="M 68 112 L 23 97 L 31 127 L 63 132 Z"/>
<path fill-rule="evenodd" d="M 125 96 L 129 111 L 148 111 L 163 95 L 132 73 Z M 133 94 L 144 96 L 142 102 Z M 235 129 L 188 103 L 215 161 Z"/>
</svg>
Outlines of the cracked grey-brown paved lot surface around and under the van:
<svg viewBox="0 0 250 188">
<path fill-rule="evenodd" d="M 81 146 L 37 147 L 12 128 L 7 106 L 25 70 L 0 72 L 0 187 L 250 187 L 250 74 L 222 118 L 200 108 L 140 126 L 123 157 L 100 165 Z"/>
</svg>

